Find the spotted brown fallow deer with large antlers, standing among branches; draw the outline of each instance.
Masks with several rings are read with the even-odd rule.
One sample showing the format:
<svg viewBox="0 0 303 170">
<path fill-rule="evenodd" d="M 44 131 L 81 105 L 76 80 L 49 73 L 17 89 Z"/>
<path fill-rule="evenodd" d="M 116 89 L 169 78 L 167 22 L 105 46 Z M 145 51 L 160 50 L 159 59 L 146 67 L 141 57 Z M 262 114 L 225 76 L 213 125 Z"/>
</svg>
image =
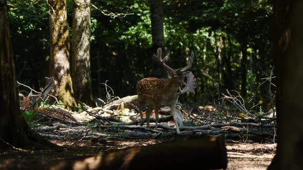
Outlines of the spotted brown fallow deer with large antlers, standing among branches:
<svg viewBox="0 0 303 170">
<path fill-rule="evenodd" d="M 137 93 L 139 99 L 139 112 L 141 117 L 141 126 L 144 123 L 142 115 L 142 107 L 144 104 L 148 104 L 146 111 L 146 122 L 147 128 L 149 128 L 149 116 L 151 111 L 155 110 L 156 115 L 156 125 L 155 130 L 157 130 L 157 124 L 159 120 L 159 109 L 161 105 L 171 107 L 171 113 L 176 124 L 177 134 L 180 133 L 177 112 L 180 112 L 176 108 L 177 98 L 179 95 L 185 92 L 195 93 L 196 79 L 194 75 L 187 70 L 192 67 L 194 53 L 192 52 L 191 57 L 188 57 L 188 64 L 183 69 L 172 69 L 168 67 L 164 62 L 166 57 L 162 59 L 161 57 L 162 49 L 157 50 L 157 55 L 154 54 L 153 59 L 160 62 L 167 73 L 171 76 L 169 80 L 147 77 L 143 78 L 137 83 Z M 182 84 L 184 84 L 184 78 L 187 77 L 187 82 L 185 88 L 181 90 Z"/>
</svg>

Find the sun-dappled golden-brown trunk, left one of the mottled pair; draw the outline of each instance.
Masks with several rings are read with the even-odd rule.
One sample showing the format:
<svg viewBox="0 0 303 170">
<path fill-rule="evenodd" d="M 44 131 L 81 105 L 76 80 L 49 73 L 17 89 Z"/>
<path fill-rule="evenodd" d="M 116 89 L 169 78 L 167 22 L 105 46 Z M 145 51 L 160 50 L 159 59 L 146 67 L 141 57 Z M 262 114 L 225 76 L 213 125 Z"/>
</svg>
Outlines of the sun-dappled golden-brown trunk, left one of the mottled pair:
<svg viewBox="0 0 303 170">
<path fill-rule="evenodd" d="M 54 77 L 54 92 L 58 100 L 77 106 L 72 89 L 69 65 L 69 31 L 66 0 L 48 0 L 50 30 L 49 74 Z"/>
</svg>

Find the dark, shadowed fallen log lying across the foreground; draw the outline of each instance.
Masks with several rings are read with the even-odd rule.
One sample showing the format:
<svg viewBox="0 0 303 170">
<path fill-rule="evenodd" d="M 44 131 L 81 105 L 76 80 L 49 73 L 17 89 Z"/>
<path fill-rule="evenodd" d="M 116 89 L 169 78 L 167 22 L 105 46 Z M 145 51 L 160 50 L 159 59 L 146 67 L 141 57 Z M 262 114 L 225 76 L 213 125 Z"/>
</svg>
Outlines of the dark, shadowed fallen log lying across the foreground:
<svg viewBox="0 0 303 170">
<path fill-rule="evenodd" d="M 225 169 L 227 153 L 217 138 L 181 138 L 171 142 L 130 147 L 96 156 L 65 160 L 2 159 L 2 169 Z"/>
</svg>

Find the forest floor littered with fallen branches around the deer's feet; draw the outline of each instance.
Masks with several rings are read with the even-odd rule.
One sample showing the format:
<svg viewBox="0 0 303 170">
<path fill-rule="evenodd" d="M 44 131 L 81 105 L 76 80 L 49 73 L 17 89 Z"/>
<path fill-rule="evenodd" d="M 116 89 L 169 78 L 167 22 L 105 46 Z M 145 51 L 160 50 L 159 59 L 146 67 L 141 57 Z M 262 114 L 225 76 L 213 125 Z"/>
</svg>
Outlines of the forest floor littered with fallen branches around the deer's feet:
<svg viewBox="0 0 303 170">
<path fill-rule="evenodd" d="M 132 99 L 132 96 L 128 98 Z M 238 101 L 233 97 L 227 99 L 232 103 Z M 116 108 L 111 108 L 112 106 Z M 198 110 L 182 107 L 183 125 L 180 128 L 181 134 L 176 136 L 176 130 L 172 128 L 175 125 L 173 118 L 170 114 L 167 116 L 169 110 L 160 110 L 156 131 L 153 123 L 150 129 L 145 125 L 140 126 L 136 109 L 126 106 L 122 101 L 118 105 L 90 108 L 81 113 L 71 113 L 55 107 L 35 108 L 37 115 L 29 123 L 33 130 L 64 149 L 55 152 L 16 149 L 10 152 L 0 151 L 0 169 L 5 163 L 10 163 L 4 161 L 10 158 L 17 161 L 73 159 L 128 147 L 163 143 L 179 136 L 224 137 L 229 170 L 267 169 L 275 155 L 276 144 L 273 141 L 277 134 L 275 119 L 269 116 L 271 111 L 251 114 L 241 109 L 240 104 L 237 105 L 238 111 L 229 108 L 217 110 L 213 106 L 199 107 Z M 128 104 L 129 106 L 131 105 Z M 143 112 L 143 116 L 144 114 Z M 152 113 L 150 121 L 155 122 L 154 119 L 155 115 Z M 186 155 L 182 156 L 186 158 Z M 165 160 L 161 156 L 159 159 Z M 195 157 L 193 161 L 201 160 Z"/>
</svg>

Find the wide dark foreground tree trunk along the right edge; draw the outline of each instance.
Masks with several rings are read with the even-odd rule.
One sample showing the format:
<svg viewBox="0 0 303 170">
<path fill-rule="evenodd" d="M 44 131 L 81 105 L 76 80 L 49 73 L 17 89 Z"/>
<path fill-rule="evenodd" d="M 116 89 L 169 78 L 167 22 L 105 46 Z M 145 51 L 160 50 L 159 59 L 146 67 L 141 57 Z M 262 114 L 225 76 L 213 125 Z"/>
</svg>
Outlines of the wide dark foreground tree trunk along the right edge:
<svg viewBox="0 0 303 170">
<path fill-rule="evenodd" d="M 269 169 L 303 169 L 303 2 L 275 1 L 277 154 Z"/>
</svg>

